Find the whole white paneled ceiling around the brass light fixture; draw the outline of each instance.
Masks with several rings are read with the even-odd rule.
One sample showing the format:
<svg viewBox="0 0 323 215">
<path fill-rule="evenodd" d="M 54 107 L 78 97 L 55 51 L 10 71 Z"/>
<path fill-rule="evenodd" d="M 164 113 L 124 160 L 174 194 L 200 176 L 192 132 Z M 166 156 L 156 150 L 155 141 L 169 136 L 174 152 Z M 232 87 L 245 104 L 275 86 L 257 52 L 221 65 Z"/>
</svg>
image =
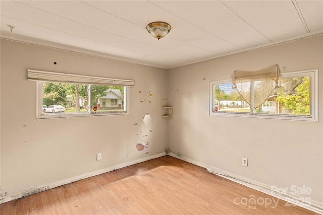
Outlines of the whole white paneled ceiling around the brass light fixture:
<svg viewBox="0 0 323 215">
<path fill-rule="evenodd" d="M 323 0 L 2 0 L 0 6 L 3 38 L 161 68 L 323 33 Z M 147 32 L 154 21 L 172 26 L 165 38 Z"/>
</svg>

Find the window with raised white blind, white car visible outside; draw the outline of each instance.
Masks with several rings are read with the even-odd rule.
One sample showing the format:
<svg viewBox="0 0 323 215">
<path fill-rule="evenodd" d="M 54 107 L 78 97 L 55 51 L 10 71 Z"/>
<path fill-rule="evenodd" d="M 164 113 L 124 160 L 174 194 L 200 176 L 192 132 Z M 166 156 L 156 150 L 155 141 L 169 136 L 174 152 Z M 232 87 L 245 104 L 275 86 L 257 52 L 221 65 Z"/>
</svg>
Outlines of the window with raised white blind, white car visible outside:
<svg viewBox="0 0 323 215">
<path fill-rule="evenodd" d="M 134 86 L 131 80 L 31 69 L 28 80 L 37 81 L 37 118 L 127 114 L 129 87 Z"/>
</svg>

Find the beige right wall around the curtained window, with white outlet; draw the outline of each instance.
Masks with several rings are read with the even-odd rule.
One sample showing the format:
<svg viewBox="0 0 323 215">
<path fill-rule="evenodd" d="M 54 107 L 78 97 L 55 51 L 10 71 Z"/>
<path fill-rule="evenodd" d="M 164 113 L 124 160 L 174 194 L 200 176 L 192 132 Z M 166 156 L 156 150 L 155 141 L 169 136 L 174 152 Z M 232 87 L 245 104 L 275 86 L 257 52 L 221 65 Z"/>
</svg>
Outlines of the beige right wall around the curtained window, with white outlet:
<svg viewBox="0 0 323 215">
<path fill-rule="evenodd" d="M 316 36 L 170 69 L 171 151 L 266 185 L 305 185 L 312 189 L 312 200 L 323 202 L 322 40 Z M 274 64 L 282 73 L 319 68 L 319 122 L 208 114 L 209 81 L 231 79 L 237 69 Z M 248 158 L 248 167 L 242 166 L 242 158 Z"/>
</svg>

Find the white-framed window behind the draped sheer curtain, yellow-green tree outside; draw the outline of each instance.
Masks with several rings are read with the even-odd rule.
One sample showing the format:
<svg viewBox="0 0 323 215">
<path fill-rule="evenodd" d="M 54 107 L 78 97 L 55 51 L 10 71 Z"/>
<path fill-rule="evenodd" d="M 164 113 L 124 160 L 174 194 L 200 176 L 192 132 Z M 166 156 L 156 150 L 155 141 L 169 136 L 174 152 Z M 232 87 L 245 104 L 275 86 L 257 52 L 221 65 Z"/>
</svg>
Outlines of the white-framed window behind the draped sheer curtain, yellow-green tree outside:
<svg viewBox="0 0 323 215">
<path fill-rule="evenodd" d="M 210 82 L 210 115 L 318 121 L 317 68 L 281 73 L 278 82 L 279 87 L 257 108 L 233 88 L 232 80 Z M 249 98 L 256 100 L 262 94 L 262 84 L 262 81 L 248 83 Z"/>
</svg>

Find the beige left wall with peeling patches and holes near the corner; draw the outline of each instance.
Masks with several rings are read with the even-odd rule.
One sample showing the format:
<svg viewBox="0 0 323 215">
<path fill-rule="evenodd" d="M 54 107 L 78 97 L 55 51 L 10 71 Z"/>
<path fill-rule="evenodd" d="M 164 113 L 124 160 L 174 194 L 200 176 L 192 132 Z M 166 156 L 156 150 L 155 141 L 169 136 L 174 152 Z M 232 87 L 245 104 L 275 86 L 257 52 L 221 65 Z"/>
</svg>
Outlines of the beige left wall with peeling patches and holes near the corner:
<svg viewBox="0 0 323 215">
<path fill-rule="evenodd" d="M 1 198 L 165 153 L 167 70 L 0 41 Z M 36 120 L 36 82 L 27 81 L 28 68 L 135 80 L 130 114 Z M 147 113 L 152 123 L 144 125 Z M 139 140 L 149 142 L 148 154 L 137 151 Z M 102 160 L 96 161 L 97 153 Z"/>
</svg>

